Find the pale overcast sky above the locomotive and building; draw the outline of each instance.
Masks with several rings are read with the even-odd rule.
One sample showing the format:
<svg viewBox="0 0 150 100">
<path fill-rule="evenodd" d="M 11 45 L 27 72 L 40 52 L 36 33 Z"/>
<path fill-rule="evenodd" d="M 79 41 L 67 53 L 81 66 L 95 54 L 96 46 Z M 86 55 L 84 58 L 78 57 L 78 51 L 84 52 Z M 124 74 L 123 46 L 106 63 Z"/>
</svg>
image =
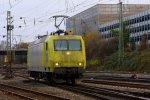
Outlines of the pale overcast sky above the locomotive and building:
<svg viewBox="0 0 150 100">
<path fill-rule="evenodd" d="M 125 4 L 150 4 L 150 0 L 122 0 Z M 0 41 L 6 40 L 7 11 L 11 11 L 14 35 L 24 42 L 33 41 L 37 35 L 55 31 L 53 15 L 72 16 L 96 4 L 117 4 L 119 0 L 0 0 Z M 22 19 L 20 19 L 20 17 Z M 61 28 L 64 28 L 65 23 Z M 19 28 L 21 26 L 21 28 Z M 19 42 L 20 38 L 16 38 Z"/>
</svg>

